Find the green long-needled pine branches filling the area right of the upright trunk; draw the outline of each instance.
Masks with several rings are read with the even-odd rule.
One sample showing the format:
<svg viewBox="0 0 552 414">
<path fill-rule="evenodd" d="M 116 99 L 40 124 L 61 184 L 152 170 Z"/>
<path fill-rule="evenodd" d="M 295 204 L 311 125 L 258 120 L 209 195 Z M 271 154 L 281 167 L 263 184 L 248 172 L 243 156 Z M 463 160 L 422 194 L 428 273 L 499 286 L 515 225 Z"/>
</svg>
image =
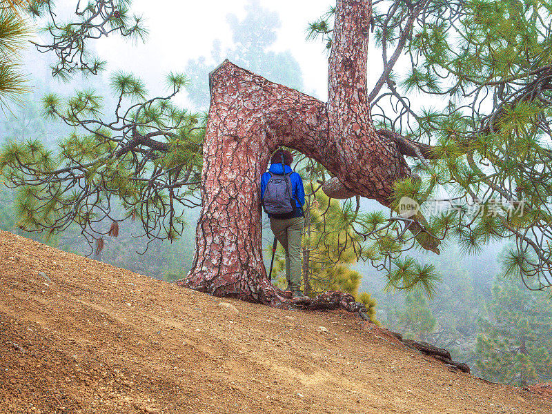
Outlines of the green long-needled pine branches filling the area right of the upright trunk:
<svg viewBox="0 0 552 414">
<path fill-rule="evenodd" d="M 382 89 L 370 94 L 380 128 L 433 146 L 435 159 L 413 162 L 421 180 L 395 188 L 396 203 L 410 197 L 422 206 L 415 245 L 433 250 L 431 235 L 477 253 L 515 238 L 511 271 L 532 288 L 551 286 L 552 243 L 540 235 L 550 235 L 552 225 L 552 2 L 430 0 L 416 6 L 374 2 L 376 46 L 386 61 L 395 48 L 406 57 L 389 66 Z M 412 20 L 415 10 L 420 14 Z M 309 37 L 327 46 L 334 13 L 311 23 Z M 451 199 L 450 208 L 424 214 L 440 197 Z M 380 232 L 370 250 L 382 255 L 391 282 L 414 268 L 398 257 L 412 246 L 404 226 L 393 228 L 395 237 Z"/>
</svg>

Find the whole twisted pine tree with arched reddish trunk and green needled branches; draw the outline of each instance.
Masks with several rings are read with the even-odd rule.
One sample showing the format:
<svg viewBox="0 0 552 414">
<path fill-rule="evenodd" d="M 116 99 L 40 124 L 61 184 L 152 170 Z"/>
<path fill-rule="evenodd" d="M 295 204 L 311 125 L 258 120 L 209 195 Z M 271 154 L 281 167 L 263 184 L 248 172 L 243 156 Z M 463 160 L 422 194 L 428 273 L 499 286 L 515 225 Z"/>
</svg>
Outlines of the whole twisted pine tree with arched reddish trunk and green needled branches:
<svg viewBox="0 0 552 414">
<path fill-rule="evenodd" d="M 74 25 L 52 26 L 54 41 L 41 50 L 56 52 L 55 73 L 101 67 L 79 52 L 88 38 L 108 29 L 143 33 L 128 18 L 129 3 L 92 1 Z M 526 286 L 548 288 L 551 12 L 549 0 L 337 0 L 311 24 L 330 52 L 326 103 L 224 61 L 210 74 L 203 128 L 170 103 L 184 77 L 170 77 L 167 97 L 148 98 L 135 77 L 121 74 L 111 120 L 90 91 L 65 105 L 48 97 L 47 112 L 75 135 L 59 155 L 36 142 L 8 146 L 0 168 L 20 186 L 23 226 L 56 232 L 76 221 L 98 243 L 108 233 L 97 228 L 105 217 L 139 218 L 149 237 L 177 237 L 177 206 L 201 204 L 193 268 L 179 284 L 285 306 L 262 261 L 258 182 L 270 153 L 287 146 L 316 161 L 314 181 L 329 197 L 367 197 L 387 208 L 351 215 L 348 227 L 362 238 L 359 258 L 386 270 L 391 286 L 431 291 L 433 268 L 402 253 L 439 253 L 453 237 L 467 252 L 515 239 L 509 259 Z M 371 38 L 383 70 L 369 88 Z M 432 108 L 413 97 L 428 97 Z M 424 211 L 437 196 L 453 208 Z M 397 214 L 403 197 L 422 209 Z M 126 216 L 112 217 L 113 199 Z M 331 297 L 356 306 L 347 295 Z"/>
</svg>

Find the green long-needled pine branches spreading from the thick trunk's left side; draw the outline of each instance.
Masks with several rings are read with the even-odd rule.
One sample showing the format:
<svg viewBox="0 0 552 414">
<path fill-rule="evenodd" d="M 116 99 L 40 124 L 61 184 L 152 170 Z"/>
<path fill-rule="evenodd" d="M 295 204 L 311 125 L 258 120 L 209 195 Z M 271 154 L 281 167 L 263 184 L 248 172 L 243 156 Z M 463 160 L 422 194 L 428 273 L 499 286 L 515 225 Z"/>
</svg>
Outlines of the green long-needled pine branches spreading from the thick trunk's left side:
<svg viewBox="0 0 552 414">
<path fill-rule="evenodd" d="M 10 186 L 17 187 L 18 226 L 58 233 L 77 223 L 98 239 L 108 233 L 100 225 L 103 219 L 132 217 L 140 219 L 150 237 L 177 239 L 186 220 L 176 203 L 195 186 L 171 186 L 199 183 L 204 121 L 170 103 L 186 86 L 186 78 L 171 73 L 167 80 L 168 97 L 148 98 L 138 77 L 115 72 L 110 83 L 117 108 L 115 121 L 109 123 L 103 121 L 106 108 L 95 90 L 77 91 L 69 98 L 46 95 L 44 115 L 74 129 L 55 149 L 39 139 L 11 140 L 3 146 L 0 170 Z M 135 134 L 157 139 L 144 159 L 137 159 L 134 147 L 122 145 Z M 112 157 L 117 150 L 120 156 Z M 159 177 L 156 186 L 149 182 L 152 175 Z M 114 205 L 122 206 L 123 213 L 111 214 Z"/>
</svg>

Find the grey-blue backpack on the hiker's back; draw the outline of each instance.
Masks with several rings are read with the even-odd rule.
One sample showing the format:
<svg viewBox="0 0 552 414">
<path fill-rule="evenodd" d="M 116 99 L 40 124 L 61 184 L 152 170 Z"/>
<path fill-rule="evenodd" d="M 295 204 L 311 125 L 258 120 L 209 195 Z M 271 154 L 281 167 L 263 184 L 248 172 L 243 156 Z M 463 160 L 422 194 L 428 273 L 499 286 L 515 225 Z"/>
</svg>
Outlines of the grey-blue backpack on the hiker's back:
<svg viewBox="0 0 552 414">
<path fill-rule="evenodd" d="M 284 156 L 282 155 L 282 170 L 285 172 Z M 266 183 L 262 206 L 264 211 L 275 219 L 289 219 L 293 217 L 295 209 L 295 200 L 292 197 L 291 180 L 288 174 L 270 173 L 270 179 Z"/>
</svg>

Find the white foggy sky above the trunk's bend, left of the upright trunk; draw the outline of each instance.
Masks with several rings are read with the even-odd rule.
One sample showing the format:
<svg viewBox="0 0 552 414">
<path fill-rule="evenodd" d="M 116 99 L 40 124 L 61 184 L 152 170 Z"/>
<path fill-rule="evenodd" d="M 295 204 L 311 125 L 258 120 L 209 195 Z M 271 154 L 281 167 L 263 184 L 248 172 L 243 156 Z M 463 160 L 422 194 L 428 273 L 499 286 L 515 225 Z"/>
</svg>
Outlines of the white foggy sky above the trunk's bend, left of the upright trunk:
<svg viewBox="0 0 552 414">
<path fill-rule="evenodd" d="M 75 0 L 63 0 L 75 6 Z M 328 57 L 322 42 L 306 41 L 306 26 L 320 17 L 334 1 L 259 0 L 262 6 L 279 14 L 275 51 L 290 50 L 302 68 L 305 90 L 320 99 L 327 97 Z M 145 44 L 132 45 L 117 36 L 97 42 L 101 59 L 108 70 L 124 69 L 141 75 L 149 82 L 163 81 L 170 70 L 183 71 L 188 59 L 209 55 L 213 40 L 222 46 L 232 44 L 226 23 L 228 14 L 244 17 L 246 0 L 135 0 L 132 10 L 143 14 L 149 30 Z M 182 97 L 181 97 L 182 99 Z M 180 99 L 177 99 L 180 100 Z"/>
</svg>

